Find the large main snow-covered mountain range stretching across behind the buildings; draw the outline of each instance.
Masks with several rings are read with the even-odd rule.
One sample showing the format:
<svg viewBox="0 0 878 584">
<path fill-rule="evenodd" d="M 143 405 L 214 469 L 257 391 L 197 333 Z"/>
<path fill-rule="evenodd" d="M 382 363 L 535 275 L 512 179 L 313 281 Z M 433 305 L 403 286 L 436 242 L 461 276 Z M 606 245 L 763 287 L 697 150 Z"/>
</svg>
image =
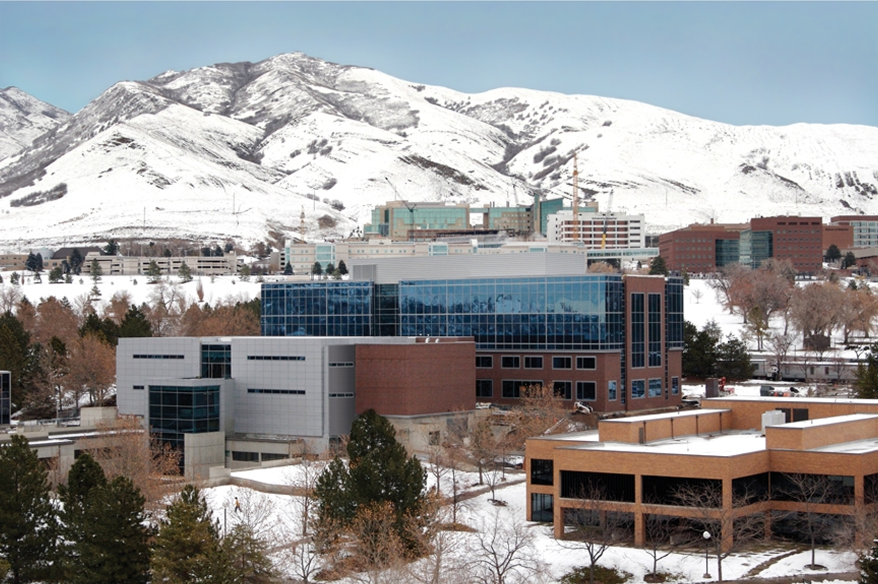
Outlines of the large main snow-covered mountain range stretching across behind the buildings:
<svg viewBox="0 0 878 584">
<path fill-rule="evenodd" d="M 878 214 L 875 127 L 732 126 L 529 89 L 471 95 L 291 53 L 119 82 L 0 160 L 0 247 L 265 239 L 298 233 L 303 210 L 307 239 L 338 238 L 394 190 L 500 205 L 568 194 L 574 152 L 585 192 L 602 209 L 612 192 L 613 210 L 644 213 L 652 232 Z"/>
</svg>

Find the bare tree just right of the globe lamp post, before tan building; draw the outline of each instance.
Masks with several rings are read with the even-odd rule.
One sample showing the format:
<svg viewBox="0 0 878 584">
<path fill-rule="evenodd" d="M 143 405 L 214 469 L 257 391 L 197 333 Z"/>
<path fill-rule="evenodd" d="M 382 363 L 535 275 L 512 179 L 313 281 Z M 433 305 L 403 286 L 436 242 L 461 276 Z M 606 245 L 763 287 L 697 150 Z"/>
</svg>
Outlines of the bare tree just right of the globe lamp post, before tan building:
<svg viewBox="0 0 878 584">
<path fill-rule="evenodd" d="M 674 489 L 677 504 L 693 513 L 691 521 L 699 532 L 709 533 L 706 545 L 716 558 L 716 575 L 723 581 L 723 559 L 738 552 L 756 538 L 764 537 L 765 522 L 762 509 L 745 514 L 741 509 L 761 498 L 749 491 L 732 495 L 732 504 L 723 505 L 722 481 L 690 481 Z"/>
</svg>

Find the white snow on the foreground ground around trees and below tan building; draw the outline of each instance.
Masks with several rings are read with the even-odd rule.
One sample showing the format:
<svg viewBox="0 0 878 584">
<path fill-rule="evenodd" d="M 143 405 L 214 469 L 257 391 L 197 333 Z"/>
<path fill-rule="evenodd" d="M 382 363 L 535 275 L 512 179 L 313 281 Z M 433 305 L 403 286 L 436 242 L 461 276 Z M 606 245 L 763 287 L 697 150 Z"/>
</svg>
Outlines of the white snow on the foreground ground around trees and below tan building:
<svg viewBox="0 0 878 584">
<path fill-rule="evenodd" d="M 426 466 L 426 465 L 425 465 Z M 301 480 L 305 472 L 300 465 L 277 466 L 274 468 L 255 469 L 233 473 L 236 477 L 246 478 L 251 481 L 260 481 L 272 485 L 296 484 Z M 526 512 L 526 485 L 522 481 L 524 474 L 521 471 L 508 471 L 506 483 L 500 483 L 497 490 L 497 499 L 506 502 L 505 506 L 495 506 L 491 501 L 489 492 L 476 495 L 464 501 L 458 521 L 476 529 L 486 529 L 486 523 L 493 521 L 494 514 L 500 520 L 500 529 L 508 529 L 515 523 L 520 523 L 534 538 L 534 551 L 546 566 L 543 575 L 549 582 L 557 582 L 565 573 L 573 568 L 587 566 L 587 554 L 573 542 L 564 542 L 561 545 L 552 537 L 551 525 L 547 523 L 533 523 L 524 521 Z M 478 473 L 461 473 L 458 480 L 464 484 L 465 490 L 472 491 L 478 486 Z M 428 482 L 430 486 L 435 484 L 433 475 L 428 468 Z M 450 492 L 450 476 L 443 475 L 443 493 Z M 292 495 L 267 495 L 258 493 L 248 488 L 241 487 L 217 487 L 205 489 L 208 504 L 213 510 L 214 517 L 219 519 L 220 525 L 224 522 L 227 529 L 231 529 L 236 522 L 252 518 L 259 525 L 263 533 L 270 533 L 269 541 L 272 545 L 282 545 L 284 541 L 296 538 L 300 533 L 299 517 L 301 508 L 297 504 L 299 497 Z M 234 497 L 241 502 L 241 511 L 234 511 Z M 478 540 L 478 534 L 456 532 L 452 536 L 451 554 L 455 554 L 458 560 L 471 558 L 471 545 Z M 810 552 L 801 552 L 786 558 L 778 559 L 772 563 L 772 559 L 789 552 L 789 547 L 776 545 L 762 549 L 758 552 L 745 552 L 735 554 L 723 560 L 723 580 L 741 579 L 755 566 L 768 563 L 755 576 L 770 578 L 778 576 L 816 576 L 821 572 L 809 570 L 805 565 L 810 564 Z M 824 573 L 843 573 L 856 570 L 853 553 L 842 552 L 821 548 L 817 550 L 817 563 L 825 566 Z M 639 584 L 644 581 L 644 575 L 651 572 L 652 559 L 645 551 L 634 547 L 612 547 L 601 558 L 601 566 L 615 567 L 620 571 L 631 574 L 629 582 Z M 711 580 L 716 580 L 716 559 L 709 559 L 709 570 L 713 574 Z M 668 581 L 674 582 L 703 582 L 704 554 L 702 551 L 674 553 L 666 559 L 659 561 L 659 571 L 670 573 L 672 577 Z M 350 580 L 354 581 L 354 580 Z M 817 580 L 814 580 L 817 581 Z M 840 580 L 831 580 L 832 583 Z M 340 580 L 347 584 L 348 580 Z M 827 581 L 830 584 L 830 581 Z"/>
</svg>

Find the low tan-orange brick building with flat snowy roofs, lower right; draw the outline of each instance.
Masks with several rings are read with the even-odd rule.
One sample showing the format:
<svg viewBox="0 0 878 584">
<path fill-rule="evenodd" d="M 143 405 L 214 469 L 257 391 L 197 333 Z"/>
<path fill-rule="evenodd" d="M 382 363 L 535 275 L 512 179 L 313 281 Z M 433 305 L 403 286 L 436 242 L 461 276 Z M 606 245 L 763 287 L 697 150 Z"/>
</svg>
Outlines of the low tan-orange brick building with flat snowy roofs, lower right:
<svg viewBox="0 0 878 584">
<path fill-rule="evenodd" d="M 577 488 L 595 485 L 602 511 L 623 514 L 644 545 L 647 515 L 682 523 L 698 516 L 675 498 L 678 488 L 713 486 L 723 501 L 711 513 L 716 521 L 756 515 L 766 534 L 788 532 L 791 514 L 805 508 L 791 479 L 799 475 L 830 486 L 810 512 L 853 525 L 878 510 L 876 438 L 874 400 L 725 397 L 700 410 L 601 420 L 597 431 L 528 439 L 528 518 L 551 521 L 560 538 L 583 508 Z M 713 535 L 728 547 L 730 522 L 722 531 Z"/>
</svg>

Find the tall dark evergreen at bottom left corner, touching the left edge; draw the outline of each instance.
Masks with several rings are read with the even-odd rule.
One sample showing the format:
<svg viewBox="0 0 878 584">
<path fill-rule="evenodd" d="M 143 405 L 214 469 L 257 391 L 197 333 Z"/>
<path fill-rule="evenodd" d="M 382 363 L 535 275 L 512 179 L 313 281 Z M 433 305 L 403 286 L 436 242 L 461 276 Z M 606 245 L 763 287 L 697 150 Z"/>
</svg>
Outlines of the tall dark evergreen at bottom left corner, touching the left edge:
<svg viewBox="0 0 878 584">
<path fill-rule="evenodd" d="M 46 470 L 18 434 L 0 448 L 0 469 L 0 558 L 10 581 L 52 580 L 58 521 Z"/>
</svg>

